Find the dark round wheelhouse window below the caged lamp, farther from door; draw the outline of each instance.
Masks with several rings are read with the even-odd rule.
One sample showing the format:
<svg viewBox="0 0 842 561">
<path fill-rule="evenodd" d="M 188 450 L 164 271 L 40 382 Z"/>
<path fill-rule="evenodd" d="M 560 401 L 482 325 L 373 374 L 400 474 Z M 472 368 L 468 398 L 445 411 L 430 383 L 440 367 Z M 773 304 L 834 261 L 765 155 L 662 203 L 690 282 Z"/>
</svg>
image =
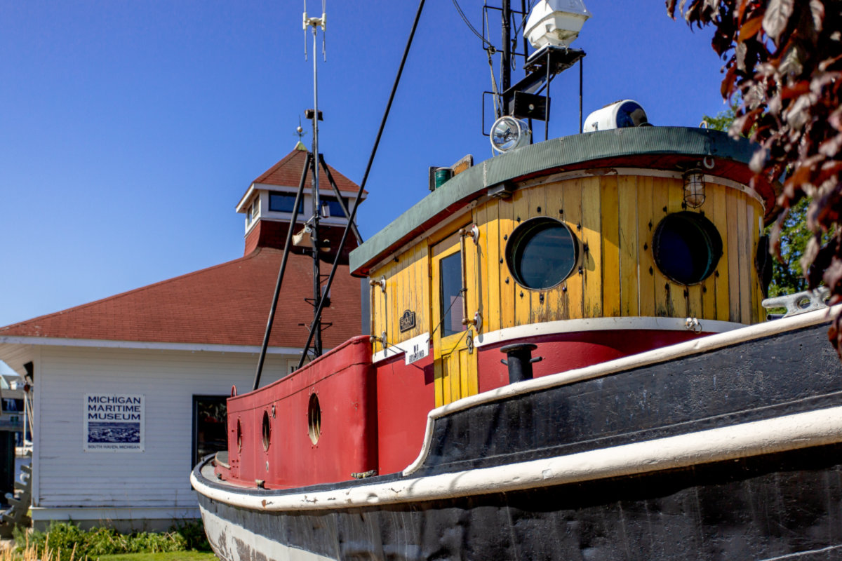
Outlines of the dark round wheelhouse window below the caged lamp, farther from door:
<svg viewBox="0 0 842 561">
<path fill-rule="evenodd" d="M 667 278 L 697 284 L 708 278 L 722 257 L 722 236 L 710 220 L 695 212 L 677 212 L 661 220 L 652 239 L 655 264 Z"/>
</svg>

